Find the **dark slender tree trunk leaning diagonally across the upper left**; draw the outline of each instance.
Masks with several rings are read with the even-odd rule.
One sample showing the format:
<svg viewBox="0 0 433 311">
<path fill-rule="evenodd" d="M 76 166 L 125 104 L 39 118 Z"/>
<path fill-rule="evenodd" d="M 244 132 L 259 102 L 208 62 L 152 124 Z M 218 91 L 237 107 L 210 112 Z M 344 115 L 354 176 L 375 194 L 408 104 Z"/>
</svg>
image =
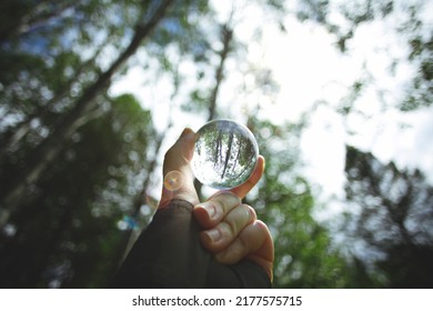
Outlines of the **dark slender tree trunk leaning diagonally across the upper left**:
<svg viewBox="0 0 433 311">
<path fill-rule="evenodd" d="M 17 179 L 9 187 L 0 201 L 0 228 L 7 223 L 10 214 L 18 208 L 20 198 L 24 197 L 27 187 L 36 183 L 47 167 L 59 154 L 63 141 L 74 132 L 77 120 L 81 119 L 87 111 L 93 108 L 97 96 L 109 87 L 115 71 L 135 53 L 142 41 L 149 37 L 151 31 L 162 20 L 172 2 L 173 0 L 165 0 L 145 24 L 138 24 L 135 27 L 134 37 L 123 53 L 83 92 L 77 100 L 73 109 L 58 122 L 52 133 L 34 150 L 32 163 L 30 163 L 20 179 Z"/>
</svg>

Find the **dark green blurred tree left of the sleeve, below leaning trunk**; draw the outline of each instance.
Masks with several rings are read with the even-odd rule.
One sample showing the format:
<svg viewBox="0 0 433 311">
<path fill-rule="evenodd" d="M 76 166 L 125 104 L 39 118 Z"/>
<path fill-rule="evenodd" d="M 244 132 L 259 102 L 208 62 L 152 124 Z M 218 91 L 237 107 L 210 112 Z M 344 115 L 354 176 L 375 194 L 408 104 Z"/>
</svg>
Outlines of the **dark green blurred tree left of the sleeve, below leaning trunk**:
<svg viewBox="0 0 433 311">
<path fill-rule="evenodd" d="M 64 146 L 11 219 L 17 233 L 2 237 L 2 287 L 107 284 L 123 242 L 117 221 L 131 209 L 151 139 L 150 114 L 133 97 L 108 104 Z"/>
</svg>

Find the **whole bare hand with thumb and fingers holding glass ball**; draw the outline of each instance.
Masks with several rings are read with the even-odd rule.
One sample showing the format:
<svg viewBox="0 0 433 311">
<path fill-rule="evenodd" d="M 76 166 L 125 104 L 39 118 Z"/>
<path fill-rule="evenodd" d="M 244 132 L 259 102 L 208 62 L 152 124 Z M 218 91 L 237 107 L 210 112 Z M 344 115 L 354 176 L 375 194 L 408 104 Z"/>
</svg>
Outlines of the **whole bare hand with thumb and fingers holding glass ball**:
<svg viewBox="0 0 433 311">
<path fill-rule="evenodd" d="M 182 199 L 194 205 L 193 214 L 204 229 L 200 233 L 203 247 L 214 254 L 216 261 L 233 264 L 243 259 L 261 265 L 272 280 L 273 241 L 268 227 L 256 219 L 253 208 L 241 200 L 258 183 L 264 171 L 264 158 L 259 157 L 252 175 L 241 185 L 230 191 L 220 191 L 208 201 L 200 203 L 194 188 L 191 159 L 197 134 L 191 129 L 183 130 L 178 141 L 165 153 L 163 174 L 174 172 L 177 187 L 162 190 L 160 207 L 172 199 Z"/>
</svg>

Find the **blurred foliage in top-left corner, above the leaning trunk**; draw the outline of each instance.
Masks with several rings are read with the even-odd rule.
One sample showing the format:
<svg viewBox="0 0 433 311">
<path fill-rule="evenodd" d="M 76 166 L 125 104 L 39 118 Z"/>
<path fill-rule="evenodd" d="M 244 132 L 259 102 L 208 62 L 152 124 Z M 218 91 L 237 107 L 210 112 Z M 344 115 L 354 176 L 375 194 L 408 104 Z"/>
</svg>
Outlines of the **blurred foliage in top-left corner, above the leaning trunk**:
<svg viewBox="0 0 433 311">
<path fill-rule="evenodd" d="M 109 32 L 114 21 L 102 14 L 105 9 L 99 1 L 9 2 L 20 8 L 20 17 L 13 24 L 2 20 L 4 29 L 16 31 L 0 40 L 0 103 L 6 114 L 14 114 L 12 120 L 38 122 L 49 130 L 99 76 L 102 48 L 122 42 L 123 33 Z M 103 30 L 98 32 L 98 24 Z M 118 30 L 128 27 L 115 24 Z M 94 38 L 104 33 L 110 36 L 99 43 Z M 17 121 L 10 126 L 11 131 L 18 128 Z"/>
</svg>

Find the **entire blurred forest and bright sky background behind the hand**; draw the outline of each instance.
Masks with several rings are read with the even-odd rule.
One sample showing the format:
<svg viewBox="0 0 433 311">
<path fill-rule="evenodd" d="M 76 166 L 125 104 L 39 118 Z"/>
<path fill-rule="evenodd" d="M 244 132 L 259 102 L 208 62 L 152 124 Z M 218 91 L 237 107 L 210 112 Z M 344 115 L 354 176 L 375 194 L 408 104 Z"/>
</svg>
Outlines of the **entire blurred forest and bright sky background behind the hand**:
<svg viewBox="0 0 433 311">
<path fill-rule="evenodd" d="M 183 127 L 218 118 L 245 124 L 266 159 L 245 202 L 275 241 L 274 288 L 433 285 L 432 172 L 356 144 L 359 137 L 379 137 L 382 123 L 373 131 L 366 124 L 387 116 L 425 114 L 420 120 L 431 122 L 433 32 L 425 16 L 432 7 L 403 0 L 221 2 L 1 2 L 1 288 L 107 287 L 154 213 L 167 147 Z M 390 46 L 361 44 L 372 29 L 390 33 Z M 339 68 L 316 72 L 325 63 L 315 58 L 326 53 L 309 49 L 308 40 L 292 49 L 314 58 L 288 57 L 292 66 L 312 63 L 302 72 L 259 61 L 270 59 L 266 42 L 292 43 L 286 38 L 298 30 L 326 38 Z M 281 42 L 269 41 L 270 33 Z M 361 66 L 351 67 L 360 54 Z M 339 74 L 349 81 L 335 83 Z M 318 77 L 338 84 L 339 96 L 301 84 Z M 125 88 L 137 83 L 139 91 Z M 281 101 L 285 92 L 309 100 Z M 302 153 L 321 113 L 332 116 L 325 126 L 345 138 L 342 169 L 326 174 L 324 184 L 305 173 L 311 163 Z M 395 124 L 401 136 L 412 126 Z M 338 137 L 314 139 L 329 144 L 325 154 Z M 431 137 L 425 141 L 433 146 Z M 338 178 L 343 194 L 321 195 L 321 187 Z M 211 191 L 198 189 L 202 199 Z"/>
</svg>

